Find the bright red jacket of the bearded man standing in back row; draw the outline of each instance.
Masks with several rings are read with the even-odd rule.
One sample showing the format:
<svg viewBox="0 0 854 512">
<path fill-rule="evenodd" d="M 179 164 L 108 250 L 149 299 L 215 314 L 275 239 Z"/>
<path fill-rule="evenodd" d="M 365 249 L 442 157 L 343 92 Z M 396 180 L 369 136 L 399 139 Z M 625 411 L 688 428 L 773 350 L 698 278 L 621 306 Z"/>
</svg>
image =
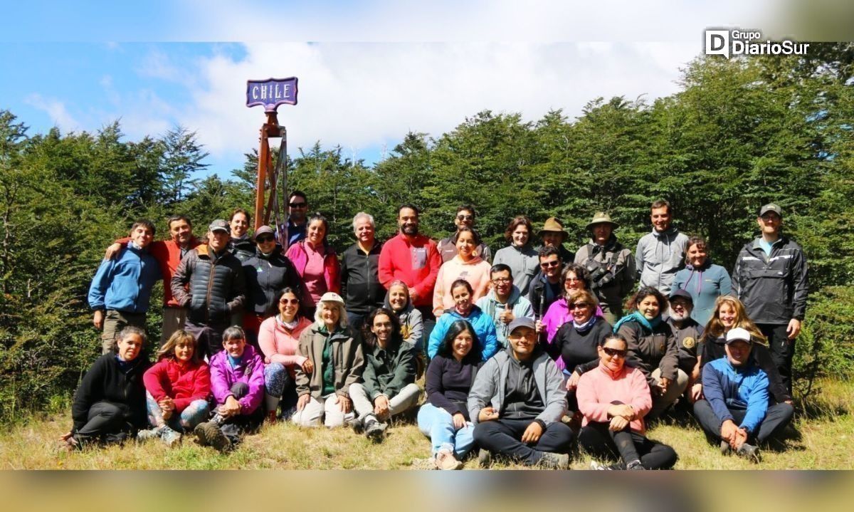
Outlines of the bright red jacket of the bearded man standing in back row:
<svg viewBox="0 0 854 512">
<path fill-rule="evenodd" d="M 413 268 L 413 263 L 420 268 Z M 436 275 L 442 267 L 442 256 L 436 249 L 436 242 L 424 235 L 417 235 L 410 244 L 403 233 L 398 233 L 383 244 L 379 253 L 379 282 L 388 290 L 392 281 L 401 280 L 410 288 L 415 288 L 418 300 L 414 306 L 433 305 L 433 287 Z"/>
</svg>

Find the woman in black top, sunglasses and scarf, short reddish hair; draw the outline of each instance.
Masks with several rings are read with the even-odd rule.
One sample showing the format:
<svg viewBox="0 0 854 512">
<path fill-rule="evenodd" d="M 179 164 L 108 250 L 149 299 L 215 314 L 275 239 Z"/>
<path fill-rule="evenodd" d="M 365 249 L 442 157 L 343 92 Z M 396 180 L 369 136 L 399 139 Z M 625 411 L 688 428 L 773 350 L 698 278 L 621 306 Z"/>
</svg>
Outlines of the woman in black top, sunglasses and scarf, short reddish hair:
<svg viewBox="0 0 854 512">
<path fill-rule="evenodd" d="M 576 385 L 584 373 L 578 367 L 596 361 L 598 348 L 612 331 L 611 324 L 595 315 L 599 304 L 591 291 L 573 291 L 567 302 L 571 320 L 558 329 L 552 343 L 546 345 L 546 351 L 558 368 L 565 368 L 564 374 L 570 375 L 566 381 L 566 399 L 569 410 L 576 411 Z"/>
</svg>

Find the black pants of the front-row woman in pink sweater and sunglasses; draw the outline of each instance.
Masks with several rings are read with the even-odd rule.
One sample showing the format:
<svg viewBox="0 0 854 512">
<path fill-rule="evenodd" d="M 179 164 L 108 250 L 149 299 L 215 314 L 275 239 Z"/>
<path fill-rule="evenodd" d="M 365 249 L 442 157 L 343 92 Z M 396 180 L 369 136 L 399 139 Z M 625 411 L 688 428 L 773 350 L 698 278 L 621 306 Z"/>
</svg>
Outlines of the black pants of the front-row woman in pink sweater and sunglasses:
<svg viewBox="0 0 854 512">
<path fill-rule="evenodd" d="M 629 462 L 640 461 L 646 469 L 670 469 L 676 464 L 676 450 L 667 444 L 651 441 L 629 427 L 614 432 L 608 425 L 591 422 L 578 433 L 578 444 L 594 458 L 622 458 L 623 467 Z"/>
</svg>

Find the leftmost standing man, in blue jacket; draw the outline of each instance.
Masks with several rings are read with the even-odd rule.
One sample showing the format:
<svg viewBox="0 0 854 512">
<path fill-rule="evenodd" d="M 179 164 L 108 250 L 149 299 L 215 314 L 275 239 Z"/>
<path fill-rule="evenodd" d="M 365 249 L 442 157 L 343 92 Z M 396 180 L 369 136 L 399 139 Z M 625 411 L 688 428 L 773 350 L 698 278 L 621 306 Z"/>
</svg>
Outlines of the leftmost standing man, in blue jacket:
<svg viewBox="0 0 854 512">
<path fill-rule="evenodd" d="M 126 326 L 145 329 L 151 288 L 161 279 L 157 260 L 147 250 L 155 225 L 140 219 L 131 227 L 131 238 L 115 259 L 105 259 L 89 286 L 89 305 L 95 310 L 92 323 L 101 334 L 102 353 L 113 350 L 115 337 Z"/>
</svg>

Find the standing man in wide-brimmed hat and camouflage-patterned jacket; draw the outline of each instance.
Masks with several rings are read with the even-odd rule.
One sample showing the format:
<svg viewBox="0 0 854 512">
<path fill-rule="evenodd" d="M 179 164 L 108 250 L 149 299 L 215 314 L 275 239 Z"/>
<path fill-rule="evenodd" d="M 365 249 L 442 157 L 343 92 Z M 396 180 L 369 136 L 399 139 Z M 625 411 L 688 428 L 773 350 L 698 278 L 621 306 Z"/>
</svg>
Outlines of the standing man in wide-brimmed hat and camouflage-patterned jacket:
<svg viewBox="0 0 854 512">
<path fill-rule="evenodd" d="M 611 215 L 598 212 L 587 225 L 590 241 L 576 252 L 576 263 L 587 268 L 593 291 L 605 320 L 611 325 L 623 318 L 623 299 L 635 286 L 635 256 L 617 242 L 614 230 L 620 227 Z"/>
</svg>

